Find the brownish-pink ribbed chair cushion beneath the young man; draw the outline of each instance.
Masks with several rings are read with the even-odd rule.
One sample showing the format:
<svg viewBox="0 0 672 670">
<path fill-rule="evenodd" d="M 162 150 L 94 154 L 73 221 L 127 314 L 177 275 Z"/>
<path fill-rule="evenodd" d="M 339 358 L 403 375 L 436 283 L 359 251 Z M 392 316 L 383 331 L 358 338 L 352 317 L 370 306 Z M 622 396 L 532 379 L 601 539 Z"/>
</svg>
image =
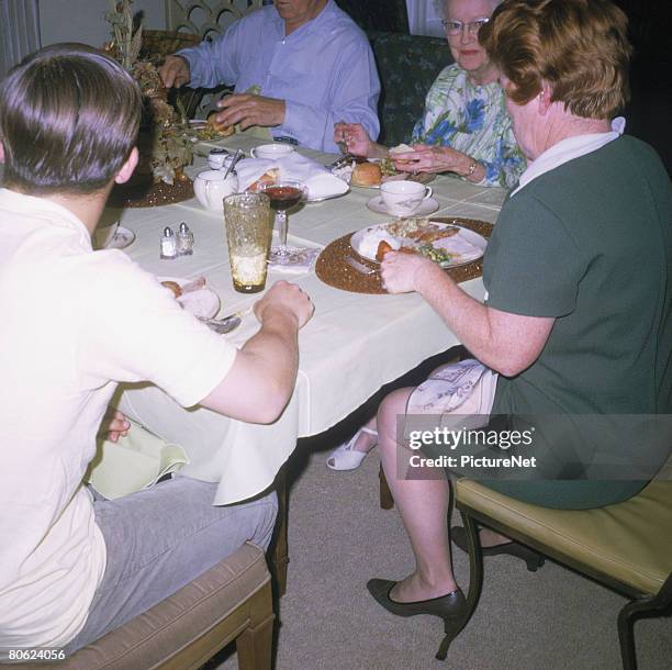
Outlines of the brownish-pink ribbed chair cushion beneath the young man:
<svg viewBox="0 0 672 670">
<path fill-rule="evenodd" d="M 57 663 L 0 667 L 25 670 L 138 670 L 164 667 L 163 663 L 173 667 L 170 660 L 176 654 L 235 614 L 236 608 L 269 580 L 264 551 L 255 545 L 245 544 L 170 598 L 68 659 Z M 222 639 L 221 646 L 234 639 L 245 627 L 247 614 L 243 611 L 239 617 L 232 618 L 236 619 L 232 621 L 232 635 L 228 639 Z M 180 667 L 180 662 L 175 667 Z"/>
</svg>

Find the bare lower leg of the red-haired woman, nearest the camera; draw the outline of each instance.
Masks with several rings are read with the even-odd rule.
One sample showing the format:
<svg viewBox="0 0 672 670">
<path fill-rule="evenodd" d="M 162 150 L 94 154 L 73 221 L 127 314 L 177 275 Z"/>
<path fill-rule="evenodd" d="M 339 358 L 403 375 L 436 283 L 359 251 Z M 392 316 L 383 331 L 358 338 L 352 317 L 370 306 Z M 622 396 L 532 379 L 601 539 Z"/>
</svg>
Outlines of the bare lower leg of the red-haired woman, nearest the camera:
<svg viewBox="0 0 672 670">
<path fill-rule="evenodd" d="M 385 478 L 394 496 L 415 555 L 415 571 L 400 581 L 390 598 L 405 603 L 446 595 L 457 589 L 450 566 L 448 537 L 448 481 L 405 479 L 407 458 L 399 459 L 396 418 L 406 413 L 414 389 L 399 389 L 388 395 L 378 411 L 378 446 Z"/>
</svg>

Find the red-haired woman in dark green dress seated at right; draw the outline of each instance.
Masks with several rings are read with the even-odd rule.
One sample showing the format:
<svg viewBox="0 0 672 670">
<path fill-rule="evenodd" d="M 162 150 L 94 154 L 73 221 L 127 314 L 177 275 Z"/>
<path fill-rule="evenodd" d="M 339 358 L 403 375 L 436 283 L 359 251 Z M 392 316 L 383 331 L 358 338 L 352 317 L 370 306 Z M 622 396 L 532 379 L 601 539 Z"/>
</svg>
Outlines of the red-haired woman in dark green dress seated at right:
<svg viewBox="0 0 672 670">
<path fill-rule="evenodd" d="M 401 581 L 370 580 L 368 589 L 393 614 L 432 614 L 453 630 L 464 598 L 450 566 L 449 488 L 443 467 L 418 478 L 428 471 L 415 470 L 408 456 L 414 413 L 435 425 L 463 425 L 456 412 L 485 421 L 505 415 L 514 425 L 526 416 L 576 422 L 579 434 L 567 432 L 571 449 L 563 453 L 562 424 L 549 449 L 537 453 L 535 443 L 540 477 L 496 480 L 496 468 L 480 474 L 506 495 L 569 510 L 631 498 L 646 485 L 637 460 L 651 458 L 650 479 L 669 456 L 669 432 L 654 453 L 636 433 L 637 421 L 621 421 L 618 431 L 627 432 L 596 450 L 601 435 L 583 434 L 586 415 L 603 417 L 604 426 L 635 415 L 657 416 L 660 425 L 672 413 L 672 188 L 656 152 L 611 126 L 629 94 L 625 14 L 608 0 L 507 0 L 479 38 L 501 69 L 514 133 L 530 161 L 488 245 L 486 300 L 471 298 L 422 256 L 390 253 L 381 264 L 391 293 L 421 293 L 478 359 L 394 391 L 377 424 L 416 569 Z M 464 368 L 469 383 L 460 383 Z M 461 406 L 452 402 L 456 388 L 464 392 Z M 410 439 L 397 434 L 400 416 Z M 495 447 L 489 456 L 497 454 Z M 625 469 L 611 476 L 611 465 L 621 462 Z M 491 536 L 483 544 L 493 554 L 505 541 Z"/>
</svg>

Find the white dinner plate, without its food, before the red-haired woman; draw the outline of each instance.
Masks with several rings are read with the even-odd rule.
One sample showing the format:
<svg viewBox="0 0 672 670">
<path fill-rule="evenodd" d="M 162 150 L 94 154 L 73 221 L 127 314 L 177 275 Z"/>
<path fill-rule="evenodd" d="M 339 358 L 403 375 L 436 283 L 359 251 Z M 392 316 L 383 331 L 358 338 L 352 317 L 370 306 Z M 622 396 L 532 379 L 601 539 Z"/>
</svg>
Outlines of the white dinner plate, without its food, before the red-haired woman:
<svg viewBox="0 0 672 670">
<path fill-rule="evenodd" d="M 401 246 L 404 247 L 424 246 L 422 241 L 418 243 L 412 237 L 406 236 L 412 231 L 400 234 L 393 228 L 392 231 L 390 230 L 390 226 L 412 226 L 416 221 L 417 219 L 415 217 L 405 219 L 361 228 L 360 231 L 352 233 L 352 236 L 350 237 L 350 246 L 362 258 L 373 263 L 378 263 L 376 260 L 376 252 L 378 249 L 380 238 L 383 236 L 393 237 L 401 244 Z M 457 233 L 450 237 L 443 237 L 429 243 L 436 250 L 444 250 L 449 254 L 455 254 L 455 256 L 449 260 L 439 263 L 439 266 L 443 268 L 458 268 L 460 266 L 468 265 L 474 260 L 478 260 L 479 258 L 482 258 L 483 254 L 485 253 L 488 241 L 474 231 L 470 231 L 469 228 L 457 223 L 441 223 L 438 221 L 426 222 L 426 225 L 432 226 L 432 230 L 457 228 Z M 425 243 L 425 245 L 427 243 Z"/>
</svg>

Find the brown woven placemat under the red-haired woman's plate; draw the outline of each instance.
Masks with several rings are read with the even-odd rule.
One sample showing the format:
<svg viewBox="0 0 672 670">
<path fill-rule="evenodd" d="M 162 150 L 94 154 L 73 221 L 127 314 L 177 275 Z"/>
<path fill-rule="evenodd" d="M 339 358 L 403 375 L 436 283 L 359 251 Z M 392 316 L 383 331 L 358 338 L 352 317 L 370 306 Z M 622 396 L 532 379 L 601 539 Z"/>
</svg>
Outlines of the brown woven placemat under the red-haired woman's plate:
<svg viewBox="0 0 672 670">
<path fill-rule="evenodd" d="M 486 221 L 479 221 L 477 219 L 462 219 L 461 216 L 432 216 L 432 221 L 439 223 L 457 223 L 466 228 L 483 235 L 486 239 L 492 233 L 492 223 Z M 315 263 L 315 272 L 317 277 L 324 283 L 341 289 L 343 291 L 350 291 L 352 293 L 387 293 L 382 288 L 380 273 L 378 271 L 372 275 L 363 275 L 350 267 L 346 263 L 348 256 L 355 256 L 362 265 L 378 270 L 379 265 L 371 263 L 366 258 L 357 255 L 350 247 L 350 237 L 352 233 L 344 235 L 338 239 L 334 239 L 325 249 L 320 254 Z M 483 269 L 483 259 L 479 258 L 467 265 L 462 265 L 458 268 L 450 268 L 446 270 L 448 275 L 458 283 L 460 281 L 469 281 L 481 276 Z"/>
</svg>

